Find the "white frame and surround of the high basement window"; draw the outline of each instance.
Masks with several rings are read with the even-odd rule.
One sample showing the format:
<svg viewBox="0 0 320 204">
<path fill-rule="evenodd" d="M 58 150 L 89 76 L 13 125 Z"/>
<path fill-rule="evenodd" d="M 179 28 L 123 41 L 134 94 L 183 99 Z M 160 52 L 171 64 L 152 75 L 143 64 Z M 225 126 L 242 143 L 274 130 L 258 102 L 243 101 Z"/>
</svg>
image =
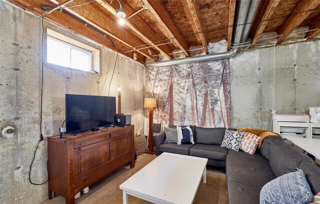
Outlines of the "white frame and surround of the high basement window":
<svg viewBox="0 0 320 204">
<path fill-rule="evenodd" d="M 51 38 L 54 41 L 60 42 L 66 46 L 69 46 L 70 52 L 72 49 L 84 52 L 86 54 L 90 54 L 90 71 L 81 70 L 69 66 L 62 66 L 54 63 L 47 62 L 47 39 Z M 101 76 L 101 66 L 100 66 L 100 53 L 101 49 L 92 44 L 88 44 L 84 40 L 71 37 L 70 35 L 66 35 L 65 33 L 60 33 L 50 27 L 46 27 L 45 29 L 45 43 L 43 46 L 43 61 L 46 66 L 52 68 L 66 68 L 70 70 L 75 70 L 79 72 L 85 72 L 88 74 L 94 74 Z M 71 56 L 71 53 L 70 53 Z M 70 66 L 71 66 L 71 58 L 70 58 Z M 97 72 L 97 73 L 96 73 Z"/>
</svg>

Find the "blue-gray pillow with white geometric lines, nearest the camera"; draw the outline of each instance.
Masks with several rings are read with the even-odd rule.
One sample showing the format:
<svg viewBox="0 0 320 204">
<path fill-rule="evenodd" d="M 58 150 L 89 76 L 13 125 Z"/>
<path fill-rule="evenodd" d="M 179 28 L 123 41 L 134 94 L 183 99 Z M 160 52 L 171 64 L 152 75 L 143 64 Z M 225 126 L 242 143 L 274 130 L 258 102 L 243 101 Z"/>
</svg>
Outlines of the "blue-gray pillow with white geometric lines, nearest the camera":
<svg viewBox="0 0 320 204">
<path fill-rule="evenodd" d="M 260 192 L 260 204 L 309 204 L 312 198 L 302 170 L 273 179 Z"/>
</svg>

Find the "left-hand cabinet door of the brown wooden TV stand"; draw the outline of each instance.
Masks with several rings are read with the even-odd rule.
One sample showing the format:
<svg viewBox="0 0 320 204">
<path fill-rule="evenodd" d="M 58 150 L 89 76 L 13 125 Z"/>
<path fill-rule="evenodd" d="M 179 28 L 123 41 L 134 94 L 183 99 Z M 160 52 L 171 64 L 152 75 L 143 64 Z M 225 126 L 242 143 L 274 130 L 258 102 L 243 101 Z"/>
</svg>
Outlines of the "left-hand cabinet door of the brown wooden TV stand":
<svg viewBox="0 0 320 204">
<path fill-rule="evenodd" d="M 87 172 L 110 160 L 109 142 L 103 141 L 74 149 L 75 176 Z"/>
</svg>

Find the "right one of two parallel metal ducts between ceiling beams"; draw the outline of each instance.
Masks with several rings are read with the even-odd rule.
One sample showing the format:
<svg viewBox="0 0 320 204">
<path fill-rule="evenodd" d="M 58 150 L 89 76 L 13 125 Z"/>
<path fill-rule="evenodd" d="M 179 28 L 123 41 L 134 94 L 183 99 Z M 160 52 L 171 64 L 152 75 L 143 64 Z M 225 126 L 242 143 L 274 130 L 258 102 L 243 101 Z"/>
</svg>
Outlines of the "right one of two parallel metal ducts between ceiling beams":
<svg viewBox="0 0 320 204">
<path fill-rule="evenodd" d="M 246 39 L 248 38 L 250 29 L 253 24 L 252 22 L 254 20 L 254 16 L 255 16 L 256 12 L 258 11 L 258 7 L 259 7 L 260 2 L 261 2 L 261 0 L 251 0 L 251 2 L 250 2 L 248 14 L 246 16 L 245 25 L 244 25 L 243 32 L 242 32 L 241 42 L 245 42 Z"/>
</svg>

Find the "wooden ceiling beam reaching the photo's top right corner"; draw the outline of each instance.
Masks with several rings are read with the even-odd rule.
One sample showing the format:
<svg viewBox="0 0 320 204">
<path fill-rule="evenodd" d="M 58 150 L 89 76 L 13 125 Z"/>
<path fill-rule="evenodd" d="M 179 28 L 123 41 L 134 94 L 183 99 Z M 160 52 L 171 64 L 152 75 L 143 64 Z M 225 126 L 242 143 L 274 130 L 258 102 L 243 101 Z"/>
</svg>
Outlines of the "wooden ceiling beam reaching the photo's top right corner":
<svg viewBox="0 0 320 204">
<path fill-rule="evenodd" d="M 277 44 L 281 44 L 287 36 L 310 14 L 309 9 L 314 9 L 320 3 L 320 0 L 301 0 L 297 3 L 291 14 L 278 29 Z M 303 12 L 306 11 L 306 12 Z"/>
</svg>

